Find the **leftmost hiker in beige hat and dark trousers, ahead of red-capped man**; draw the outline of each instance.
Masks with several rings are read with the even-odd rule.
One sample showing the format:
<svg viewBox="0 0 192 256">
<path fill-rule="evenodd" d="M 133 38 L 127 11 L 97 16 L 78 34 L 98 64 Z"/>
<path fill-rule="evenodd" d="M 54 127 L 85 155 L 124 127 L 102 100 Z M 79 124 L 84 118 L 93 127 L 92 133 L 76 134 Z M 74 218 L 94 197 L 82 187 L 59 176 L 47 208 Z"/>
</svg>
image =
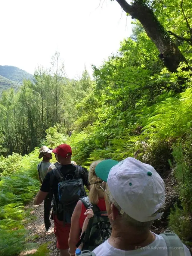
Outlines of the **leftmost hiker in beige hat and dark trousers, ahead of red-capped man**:
<svg viewBox="0 0 192 256">
<path fill-rule="evenodd" d="M 49 149 L 46 146 L 42 146 L 39 149 L 39 159 L 43 158 L 43 160 L 38 164 L 37 170 L 39 174 L 39 181 L 43 182 L 45 175 L 48 172 L 48 167 L 50 166 L 50 160 L 52 159 L 51 155 L 52 150 Z M 51 215 L 51 201 L 53 198 L 53 193 L 49 193 L 46 198 L 44 199 L 44 214 L 43 214 L 43 219 L 44 219 L 44 224 L 45 224 L 45 229 L 47 232 L 51 231 L 51 222 L 50 222 L 50 215 Z"/>
</svg>

